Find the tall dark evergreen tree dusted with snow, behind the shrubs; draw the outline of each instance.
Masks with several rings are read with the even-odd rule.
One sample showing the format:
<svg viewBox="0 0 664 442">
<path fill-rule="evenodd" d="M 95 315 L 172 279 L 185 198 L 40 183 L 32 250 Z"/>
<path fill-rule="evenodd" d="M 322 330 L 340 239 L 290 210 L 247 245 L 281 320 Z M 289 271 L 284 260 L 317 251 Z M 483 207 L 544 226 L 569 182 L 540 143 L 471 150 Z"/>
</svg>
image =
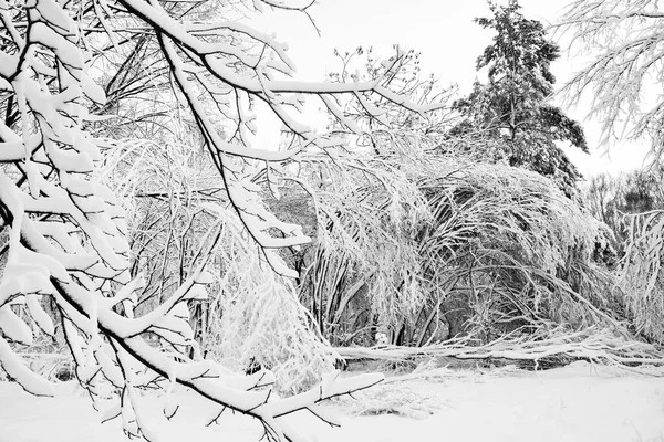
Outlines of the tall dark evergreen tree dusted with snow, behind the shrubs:
<svg viewBox="0 0 664 442">
<path fill-rule="evenodd" d="M 481 134 L 499 144 L 499 156 L 556 181 L 568 197 L 577 193 L 581 175 L 556 141 L 569 141 L 588 151 L 581 126 L 549 102 L 556 78 L 551 62 L 559 46 L 547 39 L 542 23 L 526 19 L 517 0 L 507 7 L 489 2 L 492 18 L 479 18 L 496 31 L 492 44 L 477 59 L 488 82 L 475 82 L 473 92 L 456 102 L 465 116 L 453 134 Z"/>
</svg>

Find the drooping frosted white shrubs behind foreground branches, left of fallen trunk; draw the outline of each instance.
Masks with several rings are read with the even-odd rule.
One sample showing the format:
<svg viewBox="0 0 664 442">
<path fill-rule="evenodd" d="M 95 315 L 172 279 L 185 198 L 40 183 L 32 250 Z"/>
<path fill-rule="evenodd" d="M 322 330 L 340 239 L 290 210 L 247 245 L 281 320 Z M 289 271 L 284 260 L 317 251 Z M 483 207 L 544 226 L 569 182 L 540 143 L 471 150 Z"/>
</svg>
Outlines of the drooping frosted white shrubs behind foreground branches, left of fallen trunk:
<svg viewBox="0 0 664 442">
<path fill-rule="evenodd" d="M 261 262 L 203 155 L 147 140 L 105 152 L 102 175 L 128 213 L 132 266 L 154 275 L 138 292 L 143 308 L 172 295 L 190 272 L 205 225 L 220 222 L 220 245 L 208 264 L 215 273 L 209 290 L 218 296 L 189 302 L 197 346 L 234 370 L 269 368 L 280 392 L 300 392 L 332 371 L 336 358 L 311 327 L 292 283 Z"/>
</svg>

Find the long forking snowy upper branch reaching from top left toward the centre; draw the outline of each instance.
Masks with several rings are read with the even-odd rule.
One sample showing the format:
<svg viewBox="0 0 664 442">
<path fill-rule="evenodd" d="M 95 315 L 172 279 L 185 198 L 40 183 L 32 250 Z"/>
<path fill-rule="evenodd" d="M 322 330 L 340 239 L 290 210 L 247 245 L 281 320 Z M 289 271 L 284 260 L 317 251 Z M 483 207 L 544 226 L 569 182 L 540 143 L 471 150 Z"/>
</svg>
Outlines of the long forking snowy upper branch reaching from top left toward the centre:
<svg viewBox="0 0 664 442">
<path fill-rule="evenodd" d="M 260 3 L 255 2 L 257 9 L 260 9 Z M 298 245 L 310 240 L 301 232 L 284 229 L 260 204 L 245 204 L 247 191 L 251 192 L 252 189 L 247 189 L 246 181 L 242 181 L 242 167 L 234 159 L 241 157 L 247 164 L 283 162 L 299 159 L 304 150 L 324 150 L 343 145 L 343 138 L 329 134 L 319 135 L 293 115 L 293 110 L 297 114 L 302 109 L 304 96 L 320 96 L 331 106 L 332 96 L 345 94 L 366 103 L 365 95 L 375 95 L 418 114 L 439 107 L 437 104 L 416 104 L 382 85 L 381 78 L 352 83 L 290 80 L 295 73 L 295 66 L 289 59 L 284 44 L 241 22 L 225 20 L 222 13 L 210 12 L 209 20 L 206 21 L 187 21 L 156 1 L 120 0 L 118 4 L 128 15 L 147 23 L 156 35 L 160 56 L 177 86 L 176 95 L 186 104 L 209 154 L 215 158 L 231 206 L 252 239 L 263 248 Z M 273 2 L 266 4 L 299 11 L 308 8 L 278 6 Z M 216 112 L 210 113 L 206 103 L 212 104 Z M 283 124 L 286 131 L 294 136 L 287 149 L 278 149 L 278 143 L 271 149 L 252 147 L 251 135 L 257 130 L 257 108 L 269 109 Z M 381 109 L 373 108 L 369 112 L 376 117 L 382 113 Z M 220 130 L 220 126 L 226 129 Z M 267 234 L 272 228 L 281 231 L 282 238 Z M 286 269 L 278 270 L 294 276 Z"/>
</svg>

